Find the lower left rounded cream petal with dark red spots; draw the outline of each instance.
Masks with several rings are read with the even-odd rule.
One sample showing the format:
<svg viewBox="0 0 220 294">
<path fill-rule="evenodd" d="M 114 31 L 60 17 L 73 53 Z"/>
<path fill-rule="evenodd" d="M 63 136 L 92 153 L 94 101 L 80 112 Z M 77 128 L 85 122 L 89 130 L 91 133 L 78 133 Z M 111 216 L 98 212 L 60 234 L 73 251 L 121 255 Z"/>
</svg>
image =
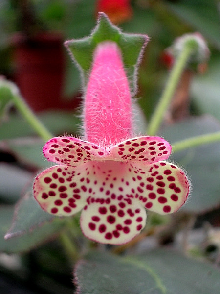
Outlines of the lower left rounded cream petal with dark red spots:
<svg viewBox="0 0 220 294">
<path fill-rule="evenodd" d="M 79 193 L 84 190 L 85 193 Z M 56 216 L 71 216 L 80 211 L 86 205 L 86 190 L 81 174 L 62 165 L 46 169 L 34 182 L 35 199 L 45 211 Z"/>
</svg>

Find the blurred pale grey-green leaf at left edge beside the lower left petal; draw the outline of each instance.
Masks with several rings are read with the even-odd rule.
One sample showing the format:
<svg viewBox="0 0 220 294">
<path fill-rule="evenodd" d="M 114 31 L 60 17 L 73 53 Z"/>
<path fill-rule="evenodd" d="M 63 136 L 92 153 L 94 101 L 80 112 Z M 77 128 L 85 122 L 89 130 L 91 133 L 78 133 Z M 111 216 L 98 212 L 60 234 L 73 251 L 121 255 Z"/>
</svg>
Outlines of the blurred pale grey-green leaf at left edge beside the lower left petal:
<svg viewBox="0 0 220 294">
<path fill-rule="evenodd" d="M 0 201 L 15 203 L 27 185 L 32 183 L 33 175 L 16 166 L 0 163 Z"/>
</svg>

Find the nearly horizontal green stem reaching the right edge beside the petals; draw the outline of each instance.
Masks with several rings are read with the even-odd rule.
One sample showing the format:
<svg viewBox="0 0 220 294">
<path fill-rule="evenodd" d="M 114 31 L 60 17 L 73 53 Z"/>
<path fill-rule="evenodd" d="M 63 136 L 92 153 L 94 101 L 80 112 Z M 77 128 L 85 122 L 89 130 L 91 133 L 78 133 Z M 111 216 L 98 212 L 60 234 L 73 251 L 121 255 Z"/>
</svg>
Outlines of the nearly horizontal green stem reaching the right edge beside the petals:
<svg viewBox="0 0 220 294">
<path fill-rule="evenodd" d="M 182 141 L 177 141 L 172 144 L 172 146 L 173 146 L 172 150 L 174 152 L 178 152 L 178 151 L 181 151 L 184 149 L 202 146 L 204 144 L 210 144 L 210 143 L 214 143 L 217 141 L 220 141 L 220 132 L 215 132 L 215 133 L 211 133 L 211 134 L 192 137 L 192 138 L 185 139 Z"/>
</svg>

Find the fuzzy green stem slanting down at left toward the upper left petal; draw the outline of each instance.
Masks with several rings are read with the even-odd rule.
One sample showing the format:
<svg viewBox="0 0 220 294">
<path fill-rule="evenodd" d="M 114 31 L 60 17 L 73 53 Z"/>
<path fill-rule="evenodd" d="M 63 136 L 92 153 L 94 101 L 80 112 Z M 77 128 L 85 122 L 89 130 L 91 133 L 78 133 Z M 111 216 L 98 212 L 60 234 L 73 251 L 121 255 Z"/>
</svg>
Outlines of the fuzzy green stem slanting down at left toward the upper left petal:
<svg viewBox="0 0 220 294">
<path fill-rule="evenodd" d="M 37 134 L 45 141 L 48 141 L 53 135 L 45 128 L 43 123 L 35 116 L 32 110 L 24 102 L 23 98 L 19 94 L 12 94 L 12 100 L 22 116 L 33 127 Z"/>
</svg>

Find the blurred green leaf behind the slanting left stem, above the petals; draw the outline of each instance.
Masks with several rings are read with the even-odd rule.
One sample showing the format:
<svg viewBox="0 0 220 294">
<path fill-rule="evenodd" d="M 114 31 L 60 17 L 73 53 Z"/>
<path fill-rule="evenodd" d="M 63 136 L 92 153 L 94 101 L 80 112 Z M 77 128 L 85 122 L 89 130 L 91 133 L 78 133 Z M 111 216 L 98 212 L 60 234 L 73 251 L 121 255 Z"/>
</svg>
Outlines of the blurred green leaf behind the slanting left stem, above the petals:
<svg viewBox="0 0 220 294">
<path fill-rule="evenodd" d="M 50 132 L 54 135 L 75 133 L 79 118 L 70 112 L 45 111 L 38 115 Z M 0 140 L 26 137 L 36 134 L 31 126 L 18 114 L 10 115 L 9 120 L 0 125 Z"/>
</svg>

